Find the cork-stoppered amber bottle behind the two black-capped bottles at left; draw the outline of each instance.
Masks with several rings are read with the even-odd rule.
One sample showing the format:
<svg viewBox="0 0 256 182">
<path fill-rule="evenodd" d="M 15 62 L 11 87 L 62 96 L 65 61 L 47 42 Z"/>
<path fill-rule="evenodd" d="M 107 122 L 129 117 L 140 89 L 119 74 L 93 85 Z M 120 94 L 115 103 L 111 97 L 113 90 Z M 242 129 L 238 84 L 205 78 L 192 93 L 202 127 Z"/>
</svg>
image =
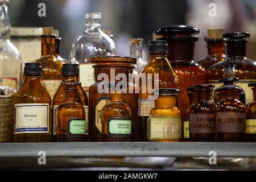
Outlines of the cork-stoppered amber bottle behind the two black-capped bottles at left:
<svg viewBox="0 0 256 182">
<path fill-rule="evenodd" d="M 46 86 L 51 98 L 61 82 L 62 63 L 55 57 L 55 38 L 52 27 L 44 27 L 42 38 L 42 57 L 35 60 L 42 65 L 42 81 Z"/>
</svg>

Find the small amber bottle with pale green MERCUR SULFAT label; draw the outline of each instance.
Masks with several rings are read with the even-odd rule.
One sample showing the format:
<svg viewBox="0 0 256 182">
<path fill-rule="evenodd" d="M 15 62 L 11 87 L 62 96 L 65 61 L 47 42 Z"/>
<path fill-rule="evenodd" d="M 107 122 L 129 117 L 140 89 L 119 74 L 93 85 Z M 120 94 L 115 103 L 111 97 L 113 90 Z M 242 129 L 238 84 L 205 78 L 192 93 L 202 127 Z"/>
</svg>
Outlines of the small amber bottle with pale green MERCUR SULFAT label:
<svg viewBox="0 0 256 182">
<path fill-rule="evenodd" d="M 131 108 L 122 102 L 121 89 L 110 89 L 110 98 L 111 102 L 101 112 L 102 142 L 131 142 Z"/>
</svg>

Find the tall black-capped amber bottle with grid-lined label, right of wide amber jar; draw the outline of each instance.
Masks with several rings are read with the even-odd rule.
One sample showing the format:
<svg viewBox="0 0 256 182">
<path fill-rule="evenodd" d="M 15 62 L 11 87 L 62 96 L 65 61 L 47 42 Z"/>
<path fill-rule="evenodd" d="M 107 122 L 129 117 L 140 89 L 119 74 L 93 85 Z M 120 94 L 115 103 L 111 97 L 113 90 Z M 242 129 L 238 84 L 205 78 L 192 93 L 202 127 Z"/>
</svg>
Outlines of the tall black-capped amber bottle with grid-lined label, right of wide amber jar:
<svg viewBox="0 0 256 182">
<path fill-rule="evenodd" d="M 152 93 L 156 84 L 158 88 L 175 88 L 179 89 L 179 80 L 175 75 L 170 63 L 168 62 L 168 44 L 164 40 L 151 41 L 148 47 L 149 60 L 144 68 L 141 77 L 152 78 L 146 83 L 141 82 L 139 100 L 138 100 L 138 117 L 142 124 L 142 140 L 146 141 L 147 118 L 150 117 L 150 110 L 155 107 L 154 94 Z M 151 87 L 149 90 L 148 87 Z M 179 107 L 179 102 L 177 102 Z"/>
</svg>

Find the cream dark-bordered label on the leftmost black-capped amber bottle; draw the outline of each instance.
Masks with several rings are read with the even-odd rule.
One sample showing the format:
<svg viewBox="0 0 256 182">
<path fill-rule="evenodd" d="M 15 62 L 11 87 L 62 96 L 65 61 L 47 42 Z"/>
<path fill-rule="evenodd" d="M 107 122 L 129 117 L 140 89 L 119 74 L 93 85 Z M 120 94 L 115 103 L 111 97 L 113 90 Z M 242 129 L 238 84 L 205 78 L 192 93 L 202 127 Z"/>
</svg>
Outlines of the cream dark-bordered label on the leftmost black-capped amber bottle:
<svg viewBox="0 0 256 182">
<path fill-rule="evenodd" d="M 15 104 L 14 133 L 49 133 L 49 104 Z"/>
</svg>

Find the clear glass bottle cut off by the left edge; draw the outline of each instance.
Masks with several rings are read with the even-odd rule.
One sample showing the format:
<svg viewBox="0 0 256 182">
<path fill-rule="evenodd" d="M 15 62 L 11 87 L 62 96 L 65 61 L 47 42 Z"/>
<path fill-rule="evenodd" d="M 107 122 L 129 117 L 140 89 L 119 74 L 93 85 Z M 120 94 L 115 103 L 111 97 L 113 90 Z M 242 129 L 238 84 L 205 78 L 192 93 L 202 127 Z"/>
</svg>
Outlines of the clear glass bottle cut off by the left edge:
<svg viewBox="0 0 256 182">
<path fill-rule="evenodd" d="M 10 42 L 9 1 L 0 1 L 0 85 L 20 88 L 22 83 L 22 58 Z"/>
</svg>

